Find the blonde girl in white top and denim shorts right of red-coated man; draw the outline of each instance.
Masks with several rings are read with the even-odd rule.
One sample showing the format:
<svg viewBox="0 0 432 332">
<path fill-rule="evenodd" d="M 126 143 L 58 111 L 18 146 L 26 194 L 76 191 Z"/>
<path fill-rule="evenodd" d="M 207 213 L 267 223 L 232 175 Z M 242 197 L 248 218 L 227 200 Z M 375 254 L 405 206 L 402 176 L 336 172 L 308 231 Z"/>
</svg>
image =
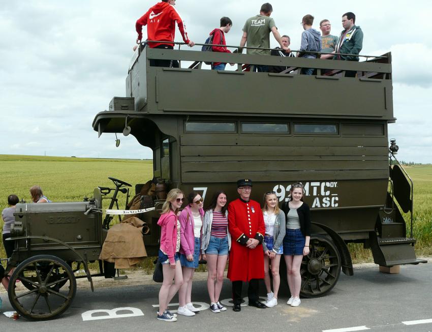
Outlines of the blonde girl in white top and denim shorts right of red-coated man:
<svg viewBox="0 0 432 332">
<path fill-rule="evenodd" d="M 277 292 L 281 284 L 279 264 L 281 256 L 284 253 L 285 214 L 278 204 L 279 199 L 277 199 L 274 191 L 264 194 L 262 213 L 265 224 L 265 235 L 262 246 L 264 250 L 264 283 L 267 288 L 267 301 L 264 304 L 268 308 L 277 305 Z M 268 273 L 269 265 L 271 265 L 271 275 L 273 277 L 273 291 L 271 291 L 270 275 Z"/>
</svg>

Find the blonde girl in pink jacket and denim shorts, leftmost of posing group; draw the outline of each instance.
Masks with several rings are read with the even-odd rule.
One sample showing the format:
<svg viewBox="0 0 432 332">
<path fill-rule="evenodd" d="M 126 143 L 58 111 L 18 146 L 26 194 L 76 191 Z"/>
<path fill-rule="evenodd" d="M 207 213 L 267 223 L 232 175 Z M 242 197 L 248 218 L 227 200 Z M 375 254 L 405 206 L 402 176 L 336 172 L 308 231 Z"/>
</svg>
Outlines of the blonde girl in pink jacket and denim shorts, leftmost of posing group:
<svg viewBox="0 0 432 332">
<path fill-rule="evenodd" d="M 167 322 L 175 322 L 177 315 L 168 310 L 168 304 L 183 284 L 183 275 L 178 258 L 180 250 L 180 222 L 178 221 L 178 209 L 183 203 L 183 192 L 180 189 L 171 189 L 162 206 L 162 215 L 158 225 L 161 226 L 161 246 L 159 249 L 159 261 L 162 264 L 164 282 L 159 291 L 158 319 Z M 172 283 L 174 279 L 174 283 Z"/>
</svg>

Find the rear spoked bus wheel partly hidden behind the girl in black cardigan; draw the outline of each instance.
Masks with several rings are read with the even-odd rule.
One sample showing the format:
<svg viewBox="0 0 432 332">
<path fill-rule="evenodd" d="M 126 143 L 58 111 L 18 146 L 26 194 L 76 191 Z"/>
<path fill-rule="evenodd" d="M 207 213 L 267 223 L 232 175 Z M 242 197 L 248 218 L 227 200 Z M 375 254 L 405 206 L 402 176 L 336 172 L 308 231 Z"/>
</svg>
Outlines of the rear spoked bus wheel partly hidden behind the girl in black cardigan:
<svg viewBox="0 0 432 332">
<path fill-rule="evenodd" d="M 319 297 L 330 291 L 341 274 L 341 256 L 331 239 L 311 237 L 310 253 L 303 257 L 300 267 L 300 295 Z"/>
</svg>

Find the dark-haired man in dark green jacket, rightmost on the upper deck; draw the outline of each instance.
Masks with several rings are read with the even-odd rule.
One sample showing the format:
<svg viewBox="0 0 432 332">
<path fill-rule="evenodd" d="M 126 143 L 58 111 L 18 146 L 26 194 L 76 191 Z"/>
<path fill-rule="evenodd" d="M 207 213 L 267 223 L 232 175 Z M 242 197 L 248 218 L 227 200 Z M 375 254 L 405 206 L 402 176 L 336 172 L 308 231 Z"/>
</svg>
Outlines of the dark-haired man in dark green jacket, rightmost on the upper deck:
<svg viewBox="0 0 432 332">
<path fill-rule="evenodd" d="M 336 53 L 352 55 L 335 55 L 333 59 L 359 61 L 358 54 L 363 48 L 363 32 L 360 26 L 355 25 L 354 13 L 348 12 L 342 15 L 344 30 L 336 44 Z"/>
</svg>

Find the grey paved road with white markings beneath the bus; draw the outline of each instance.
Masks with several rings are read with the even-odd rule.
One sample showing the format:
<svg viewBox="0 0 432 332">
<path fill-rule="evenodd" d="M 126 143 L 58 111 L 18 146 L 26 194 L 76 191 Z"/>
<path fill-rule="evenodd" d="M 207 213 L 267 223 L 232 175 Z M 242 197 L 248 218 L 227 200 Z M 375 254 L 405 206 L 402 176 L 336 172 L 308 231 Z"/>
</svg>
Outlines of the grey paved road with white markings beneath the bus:
<svg viewBox="0 0 432 332">
<path fill-rule="evenodd" d="M 156 319 L 159 285 L 99 288 L 91 293 L 87 287 L 80 287 L 69 310 L 59 318 L 48 322 L 29 322 L 24 318 L 17 321 L 0 316 L 2 330 L 16 331 L 111 331 L 146 330 L 161 328 L 176 331 L 328 331 L 345 332 L 369 330 L 371 332 L 432 331 L 432 262 L 420 265 L 402 266 L 400 274 L 387 275 L 378 267 L 356 267 L 353 277 L 341 275 L 333 290 L 324 297 L 302 299 L 298 308 L 286 305 L 287 296 L 280 296 L 279 305 L 272 309 L 243 307 L 240 313 L 231 308 L 214 314 L 203 310 L 195 317 L 180 316 L 175 323 Z M 224 299 L 229 299 L 231 285 L 226 281 Z M 264 289 L 262 288 L 262 293 Z M 9 301 L 3 297 L 3 311 L 12 310 Z M 206 282 L 195 282 L 193 299 L 197 306 L 208 307 Z M 176 300 L 176 298 L 175 298 Z M 100 319 L 104 313 L 93 314 L 91 310 L 113 310 L 132 308 L 132 311 L 117 312 L 117 315 L 132 313 L 131 317 Z M 172 306 L 171 309 L 176 309 Z M 84 315 L 83 315 L 84 314 Z M 133 316 L 133 315 L 138 316 Z M 87 317 L 87 318 L 86 318 Z M 404 323 L 405 322 L 405 323 Z"/>
</svg>

